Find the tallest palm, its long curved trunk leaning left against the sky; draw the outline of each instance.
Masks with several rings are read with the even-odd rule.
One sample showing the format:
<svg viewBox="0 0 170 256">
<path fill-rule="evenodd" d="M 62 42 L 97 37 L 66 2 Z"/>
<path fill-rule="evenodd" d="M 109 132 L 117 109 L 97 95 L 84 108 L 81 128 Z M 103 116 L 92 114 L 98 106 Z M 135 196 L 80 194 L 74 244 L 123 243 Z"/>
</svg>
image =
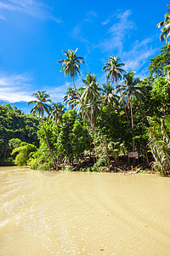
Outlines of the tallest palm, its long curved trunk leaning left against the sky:
<svg viewBox="0 0 170 256">
<path fill-rule="evenodd" d="M 76 53 L 77 53 L 77 49 L 75 51 L 72 49 L 64 50 L 64 55 L 66 56 L 66 59 L 58 61 L 58 63 L 63 63 L 63 67 L 61 67 L 60 72 L 65 71 L 65 76 L 69 75 L 69 73 L 71 74 L 71 79 L 72 79 L 72 83 L 73 83 L 74 89 L 77 94 L 77 98 L 78 98 L 79 102 L 81 103 L 82 108 L 83 108 L 84 112 L 86 113 L 89 122 L 93 126 L 93 123 L 88 115 L 88 112 L 86 111 L 86 108 L 84 107 L 84 105 L 82 103 L 81 97 L 77 92 L 77 88 L 76 88 L 76 85 L 74 82 L 74 77 L 77 75 L 77 73 L 80 74 L 80 70 L 79 70 L 80 64 L 84 63 L 82 56 L 77 56 Z M 97 134 L 97 132 L 96 132 L 96 134 Z"/>
</svg>

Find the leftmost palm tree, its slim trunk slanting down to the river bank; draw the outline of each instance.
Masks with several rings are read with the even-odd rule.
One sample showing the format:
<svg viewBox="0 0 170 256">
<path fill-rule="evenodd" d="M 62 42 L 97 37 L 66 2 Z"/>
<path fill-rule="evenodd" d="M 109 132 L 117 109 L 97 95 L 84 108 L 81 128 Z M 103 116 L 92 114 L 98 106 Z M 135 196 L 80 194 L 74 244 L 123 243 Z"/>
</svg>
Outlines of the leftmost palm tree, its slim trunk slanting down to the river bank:
<svg viewBox="0 0 170 256">
<path fill-rule="evenodd" d="M 49 143 L 48 143 L 48 137 L 45 131 L 45 127 L 43 124 L 43 115 L 44 113 L 49 113 L 49 110 L 51 109 L 50 106 L 48 105 L 48 103 L 51 103 L 51 100 L 49 99 L 48 94 L 45 92 L 45 90 L 42 91 L 37 91 L 37 93 L 34 93 L 33 96 L 36 97 L 35 101 L 31 101 L 28 102 L 28 105 L 31 104 L 36 104 L 32 109 L 31 109 L 31 113 L 33 113 L 34 115 L 39 115 L 39 117 L 41 117 L 42 119 L 42 128 L 45 134 L 45 138 L 46 138 L 46 142 L 48 144 L 48 149 L 51 155 L 51 158 L 54 162 L 54 169 L 56 169 L 56 162 L 54 160 L 54 156 L 52 154 L 51 148 L 49 147 Z"/>
</svg>

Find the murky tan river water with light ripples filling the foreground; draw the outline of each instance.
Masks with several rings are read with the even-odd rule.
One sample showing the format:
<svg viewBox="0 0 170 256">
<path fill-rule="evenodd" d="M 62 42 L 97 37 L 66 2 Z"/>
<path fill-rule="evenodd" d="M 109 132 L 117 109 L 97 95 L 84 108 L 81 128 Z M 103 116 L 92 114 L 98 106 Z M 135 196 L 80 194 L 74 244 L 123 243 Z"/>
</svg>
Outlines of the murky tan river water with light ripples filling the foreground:
<svg viewBox="0 0 170 256">
<path fill-rule="evenodd" d="M 170 255 L 170 179 L 0 167 L 0 255 Z"/>
</svg>

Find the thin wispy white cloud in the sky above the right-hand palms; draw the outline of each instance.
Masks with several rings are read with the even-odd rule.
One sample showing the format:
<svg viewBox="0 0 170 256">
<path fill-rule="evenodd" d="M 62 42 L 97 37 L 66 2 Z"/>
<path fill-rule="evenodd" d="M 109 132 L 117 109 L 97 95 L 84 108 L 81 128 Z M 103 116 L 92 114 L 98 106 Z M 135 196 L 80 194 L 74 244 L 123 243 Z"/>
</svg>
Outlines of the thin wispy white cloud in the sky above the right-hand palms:
<svg viewBox="0 0 170 256">
<path fill-rule="evenodd" d="M 145 38 L 142 41 L 136 40 L 134 43 L 132 42 L 131 32 L 136 29 L 136 26 L 133 20 L 130 20 L 131 11 L 126 10 L 123 13 L 119 13 L 111 15 L 107 20 L 102 22 L 102 25 L 108 25 L 111 23 L 112 19 L 116 19 L 116 23 L 108 28 L 107 32 L 110 35 L 101 41 L 97 48 L 101 49 L 102 52 L 108 53 L 112 55 L 112 52 L 116 52 L 116 54 L 121 58 L 121 61 L 125 63 L 125 70 L 128 72 L 130 70 L 136 71 L 137 75 L 140 77 L 144 77 L 148 75 L 148 69 L 146 68 L 146 63 L 148 67 L 148 62 L 150 57 L 156 54 L 158 50 L 155 46 L 154 41 L 156 40 L 156 36 L 152 36 L 150 38 Z M 118 19 L 118 21 L 117 21 Z M 127 42 L 128 40 L 128 42 Z M 130 48 L 127 48 L 127 45 L 132 42 Z M 127 45 L 125 45 L 127 43 Z M 124 50 L 126 46 L 126 51 Z M 105 63 L 105 57 L 101 60 Z M 143 69 L 143 71 L 141 71 Z"/>
</svg>

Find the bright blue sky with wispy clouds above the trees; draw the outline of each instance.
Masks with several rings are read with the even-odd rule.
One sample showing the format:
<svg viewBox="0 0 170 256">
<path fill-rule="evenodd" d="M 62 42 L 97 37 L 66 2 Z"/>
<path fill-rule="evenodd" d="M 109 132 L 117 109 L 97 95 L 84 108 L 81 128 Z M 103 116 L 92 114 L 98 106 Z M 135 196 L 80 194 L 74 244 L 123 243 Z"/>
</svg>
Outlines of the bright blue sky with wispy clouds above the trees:
<svg viewBox="0 0 170 256">
<path fill-rule="evenodd" d="M 0 0 L 0 102 L 25 113 L 37 90 L 62 102 L 71 78 L 60 73 L 64 49 L 84 57 L 77 87 L 86 72 L 105 83 L 102 67 L 116 55 L 127 71 L 144 78 L 150 58 L 165 44 L 156 24 L 169 1 Z"/>
</svg>

